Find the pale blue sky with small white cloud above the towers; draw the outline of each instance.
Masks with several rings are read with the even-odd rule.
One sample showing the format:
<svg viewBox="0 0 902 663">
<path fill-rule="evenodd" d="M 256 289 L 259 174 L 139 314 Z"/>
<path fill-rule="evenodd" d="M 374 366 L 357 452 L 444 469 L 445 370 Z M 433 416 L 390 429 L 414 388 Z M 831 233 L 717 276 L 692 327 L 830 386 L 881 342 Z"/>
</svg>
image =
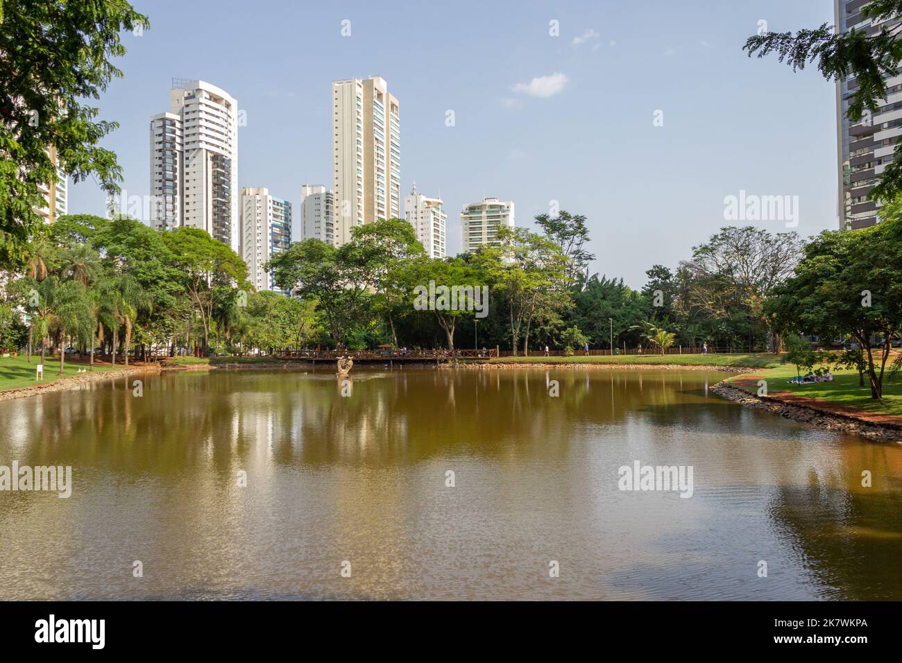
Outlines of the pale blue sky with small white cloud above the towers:
<svg viewBox="0 0 902 663">
<path fill-rule="evenodd" d="M 124 78 L 98 102 L 121 125 L 104 144 L 129 195 L 149 192 L 148 119 L 168 110 L 170 79 L 202 78 L 247 114 L 240 186 L 297 215 L 302 184 L 332 185 L 331 81 L 382 76 L 400 100 L 401 193 L 440 192 L 451 254 L 460 208 L 483 196 L 513 200 L 518 226 L 551 200 L 587 216 L 593 270 L 636 288 L 727 225 L 723 199 L 741 189 L 797 196 L 802 235 L 837 227 L 833 84 L 741 51 L 762 19 L 832 24 L 830 0 L 133 5 L 151 30 L 124 35 Z M 94 182 L 72 188 L 69 212 L 105 213 Z"/>
</svg>

